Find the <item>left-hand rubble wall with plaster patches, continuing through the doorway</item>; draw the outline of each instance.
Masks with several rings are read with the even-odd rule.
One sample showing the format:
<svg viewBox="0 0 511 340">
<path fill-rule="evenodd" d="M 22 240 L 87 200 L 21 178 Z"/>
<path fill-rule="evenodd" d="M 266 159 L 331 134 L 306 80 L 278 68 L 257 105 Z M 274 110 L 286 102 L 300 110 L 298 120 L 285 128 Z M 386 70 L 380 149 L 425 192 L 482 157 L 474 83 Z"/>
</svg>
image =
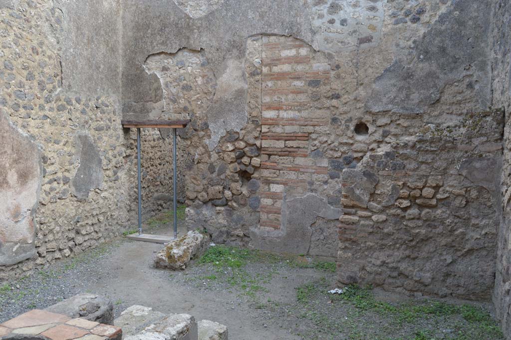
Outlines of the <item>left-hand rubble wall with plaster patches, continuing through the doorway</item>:
<svg viewBox="0 0 511 340">
<path fill-rule="evenodd" d="M 0 279 L 135 226 L 136 135 L 121 127 L 120 21 L 109 19 L 118 5 L 0 2 Z M 143 143 L 152 214 L 170 206 L 171 145 L 158 131 Z"/>
</svg>

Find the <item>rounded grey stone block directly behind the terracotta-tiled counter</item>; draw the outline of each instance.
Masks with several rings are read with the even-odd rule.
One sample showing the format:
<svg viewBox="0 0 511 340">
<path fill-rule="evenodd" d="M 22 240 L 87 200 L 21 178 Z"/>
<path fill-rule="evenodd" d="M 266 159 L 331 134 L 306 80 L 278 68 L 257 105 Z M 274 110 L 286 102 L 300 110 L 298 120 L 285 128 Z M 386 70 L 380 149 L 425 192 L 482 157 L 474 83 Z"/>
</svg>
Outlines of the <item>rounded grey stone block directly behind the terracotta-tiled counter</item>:
<svg viewBox="0 0 511 340">
<path fill-rule="evenodd" d="M 101 324 L 113 325 L 113 303 L 95 294 L 78 294 L 65 299 L 45 310 L 69 316 L 82 318 Z"/>
</svg>

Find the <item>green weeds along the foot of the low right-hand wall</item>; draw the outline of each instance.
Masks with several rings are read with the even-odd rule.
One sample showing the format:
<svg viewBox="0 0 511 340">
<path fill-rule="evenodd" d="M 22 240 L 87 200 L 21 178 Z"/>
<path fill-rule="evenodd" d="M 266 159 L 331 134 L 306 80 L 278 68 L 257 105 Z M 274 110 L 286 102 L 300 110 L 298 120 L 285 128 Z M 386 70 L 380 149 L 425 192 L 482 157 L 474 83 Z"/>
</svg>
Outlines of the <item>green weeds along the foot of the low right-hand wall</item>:
<svg viewBox="0 0 511 340">
<path fill-rule="evenodd" d="M 342 294 L 327 294 L 327 290 L 328 283 L 325 279 L 305 284 L 296 290 L 296 299 L 304 306 L 303 310 L 305 310 L 302 317 L 313 322 L 319 329 L 331 329 L 331 325 L 325 324 L 328 322 L 328 315 L 313 313 L 311 310 L 315 309 L 314 302 L 326 298 L 334 306 L 335 304 L 349 304 L 355 307 L 350 316 L 356 319 L 363 319 L 370 315 L 385 319 L 391 327 L 389 332 L 405 328 L 418 328 L 406 337 L 381 337 L 384 340 L 435 340 L 440 338 L 446 340 L 497 340 L 503 337 L 490 313 L 479 306 L 453 305 L 434 300 L 391 304 L 376 299 L 370 286 L 350 285 L 344 288 Z M 444 322 L 447 324 L 446 327 L 452 328 L 452 331 L 446 336 L 438 334 L 438 329 L 421 329 L 421 324 L 425 320 L 429 320 L 430 324 Z M 372 340 L 375 338 L 366 335 L 361 334 L 354 326 L 350 339 L 370 338 Z"/>
</svg>

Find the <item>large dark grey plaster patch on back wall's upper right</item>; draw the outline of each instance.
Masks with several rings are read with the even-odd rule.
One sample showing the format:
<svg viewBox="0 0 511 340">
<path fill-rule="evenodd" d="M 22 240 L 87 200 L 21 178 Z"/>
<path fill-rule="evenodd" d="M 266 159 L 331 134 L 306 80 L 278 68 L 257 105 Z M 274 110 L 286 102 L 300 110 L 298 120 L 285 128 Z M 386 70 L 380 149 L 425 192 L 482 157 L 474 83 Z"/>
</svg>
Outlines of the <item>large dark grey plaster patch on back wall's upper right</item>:
<svg viewBox="0 0 511 340">
<path fill-rule="evenodd" d="M 482 13 L 485 13 L 482 15 Z M 473 76 L 478 104 L 490 104 L 487 1 L 455 2 L 414 46 L 409 63 L 396 61 L 376 79 L 365 107 L 369 111 L 423 113 L 440 98 L 446 84 Z M 452 27 L 456 27 L 453 30 Z M 476 82 L 477 81 L 477 82 Z"/>
</svg>

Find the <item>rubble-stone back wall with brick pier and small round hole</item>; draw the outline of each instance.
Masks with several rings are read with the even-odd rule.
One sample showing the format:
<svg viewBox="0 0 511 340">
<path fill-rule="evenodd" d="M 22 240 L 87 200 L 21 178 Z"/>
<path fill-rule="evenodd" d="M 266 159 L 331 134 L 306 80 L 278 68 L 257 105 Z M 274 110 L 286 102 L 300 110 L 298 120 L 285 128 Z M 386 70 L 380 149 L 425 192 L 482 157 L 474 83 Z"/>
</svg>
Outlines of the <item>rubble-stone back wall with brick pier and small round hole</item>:
<svg viewBox="0 0 511 340">
<path fill-rule="evenodd" d="M 340 282 L 487 299 L 499 195 L 475 159 L 498 171 L 503 126 L 487 5 L 126 1 L 123 115 L 191 119 L 187 222 L 215 242 L 336 257 Z M 417 257 L 440 239 L 441 256 Z"/>
</svg>

